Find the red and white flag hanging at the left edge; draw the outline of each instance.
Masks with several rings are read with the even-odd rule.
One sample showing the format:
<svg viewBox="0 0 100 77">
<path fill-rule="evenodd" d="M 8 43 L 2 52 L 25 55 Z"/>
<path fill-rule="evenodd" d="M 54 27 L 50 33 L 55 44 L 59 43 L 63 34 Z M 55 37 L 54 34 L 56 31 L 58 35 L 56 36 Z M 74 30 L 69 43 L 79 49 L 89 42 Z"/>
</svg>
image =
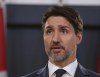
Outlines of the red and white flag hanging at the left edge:
<svg viewBox="0 0 100 77">
<path fill-rule="evenodd" d="M 0 6 L 0 77 L 7 77 L 5 41 L 6 39 L 4 30 L 4 13 L 3 13 L 3 8 Z"/>
</svg>

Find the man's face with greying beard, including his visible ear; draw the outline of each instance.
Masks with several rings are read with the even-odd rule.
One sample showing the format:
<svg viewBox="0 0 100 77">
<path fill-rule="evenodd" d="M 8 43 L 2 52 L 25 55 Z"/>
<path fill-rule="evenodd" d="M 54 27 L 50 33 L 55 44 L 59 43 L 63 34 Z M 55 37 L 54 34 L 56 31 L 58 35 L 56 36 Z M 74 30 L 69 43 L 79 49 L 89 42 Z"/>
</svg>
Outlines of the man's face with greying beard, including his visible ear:
<svg viewBox="0 0 100 77">
<path fill-rule="evenodd" d="M 45 51 L 51 61 L 64 61 L 76 54 L 82 33 L 75 34 L 72 25 L 62 16 L 51 16 L 44 27 Z"/>
</svg>

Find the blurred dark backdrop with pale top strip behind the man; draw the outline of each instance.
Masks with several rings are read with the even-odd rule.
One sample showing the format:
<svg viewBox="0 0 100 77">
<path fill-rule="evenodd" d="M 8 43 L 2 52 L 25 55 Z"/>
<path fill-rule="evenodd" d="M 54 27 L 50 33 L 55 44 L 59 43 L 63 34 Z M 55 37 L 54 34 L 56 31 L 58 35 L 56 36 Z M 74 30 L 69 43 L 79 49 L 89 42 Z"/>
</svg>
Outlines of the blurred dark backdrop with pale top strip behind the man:
<svg viewBox="0 0 100 77">
<path fill-rule="evenodd" d="M 20 77 L 47 63 L 41 21 L 52 5 L 69 5 L 80 12 L 84 32 L 78 61 L 95 72 L 100 70 L 100 0 L 6 0 L 8 77 Z"/>
</svg>

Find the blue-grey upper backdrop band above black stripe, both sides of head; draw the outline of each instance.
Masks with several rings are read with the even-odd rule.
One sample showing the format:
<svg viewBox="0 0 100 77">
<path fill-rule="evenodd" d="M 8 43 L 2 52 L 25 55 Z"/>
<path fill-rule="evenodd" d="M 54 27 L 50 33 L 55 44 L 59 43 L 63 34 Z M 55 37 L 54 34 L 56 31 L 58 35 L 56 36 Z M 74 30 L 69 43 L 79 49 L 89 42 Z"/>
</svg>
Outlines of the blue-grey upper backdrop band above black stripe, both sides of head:
<svg viewBox="0 0 100 77">
<path fill-rule="evenodd" d="M 47 5 L 7 5 L 7 22 L 41 24 Z M 100 25 L 100 6 L 71 6 L 78 10 L 85 25 Z"/>
</svg>

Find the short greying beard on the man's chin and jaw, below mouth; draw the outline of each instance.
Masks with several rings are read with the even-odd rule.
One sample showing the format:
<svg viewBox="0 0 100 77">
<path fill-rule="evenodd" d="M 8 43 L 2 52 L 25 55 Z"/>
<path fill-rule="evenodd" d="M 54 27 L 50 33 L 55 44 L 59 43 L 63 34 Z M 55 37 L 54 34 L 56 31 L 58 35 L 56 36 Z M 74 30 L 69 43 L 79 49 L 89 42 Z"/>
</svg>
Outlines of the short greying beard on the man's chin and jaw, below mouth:
<svg viewBox="0 0 100 77">
<path fill-rule="evenodd" d="M 51 61 L 61 62 L 61 61 L 67 60 L 70 57 L 70 55 L 73 53 L 73 51 L 65 51 L 64 54 L 52 53 L 52 52 L 46 52 L 46 53 Z"/>
</svg>

